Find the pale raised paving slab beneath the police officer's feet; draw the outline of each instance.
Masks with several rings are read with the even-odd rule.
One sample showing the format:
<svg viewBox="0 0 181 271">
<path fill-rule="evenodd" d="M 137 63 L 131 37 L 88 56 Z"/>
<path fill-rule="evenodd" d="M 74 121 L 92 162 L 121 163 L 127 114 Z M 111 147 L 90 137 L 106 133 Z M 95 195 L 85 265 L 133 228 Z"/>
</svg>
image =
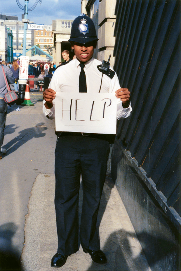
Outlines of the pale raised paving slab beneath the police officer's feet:
<svg viewBox="0 0 181 271">
<path fill-rule="evenodd" d="M 54 191 L 54 174 L 39 174 L 36 177 L 25 222 L 22 270 L 151 270 L 110 177 L 107 177 L 104 185 L 98 215 L 101 249 L 107 256 L 107 264 L 94 263 L 80 246 L 77 253 L 67 258 L 64 266 L 51 267 L 51 258 L 57 252 L 58 242 Z M 79 217 L 81 203 L 82 190 L 79 196 Z"/>
</svg>

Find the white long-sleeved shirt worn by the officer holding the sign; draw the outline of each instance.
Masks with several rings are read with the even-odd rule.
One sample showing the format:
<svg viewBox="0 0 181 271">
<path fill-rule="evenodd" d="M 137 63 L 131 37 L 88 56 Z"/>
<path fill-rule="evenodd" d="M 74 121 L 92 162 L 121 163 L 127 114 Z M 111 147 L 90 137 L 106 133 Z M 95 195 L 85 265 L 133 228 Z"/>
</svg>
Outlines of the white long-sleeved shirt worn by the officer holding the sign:
<svg viewBox="0 0 181 271">
<path fill-rule="evenodd" d="M 81 71 L 79 64 L 79 60 L 74 59 L 66 65 L 60 66 L 57 70 L 55 70 L 48 88 L 53 89 L 55 92 L 79 92 L 79 75 Z M 84 64 L 87 92 L 98 93 L 102 73 L 98 70 L 97 66 L 102 64 L 102 62 L 95 58 L 91 58 Z M 112 68 L 110 69 L 112 70 Z M 100 93 L 116 92 L 116 90 L 120 88 L 121 87 L 119 85 L 119 80 L 116 73 L 112 79 L 105 74 L 103 75 Z M 120 99 L 117 100 L 117 119 L 127 118 L 132 111 L 131 105 L 128 108 L 123 108 L 122 101 Z M 43 113 L 46 116 L 48 115 L 49 119 L 55 118 L 54 100 L 53 107 L 50 109 L 47 109 L 44 104 L 45 100 L 43 101 Z"/>
</svg>

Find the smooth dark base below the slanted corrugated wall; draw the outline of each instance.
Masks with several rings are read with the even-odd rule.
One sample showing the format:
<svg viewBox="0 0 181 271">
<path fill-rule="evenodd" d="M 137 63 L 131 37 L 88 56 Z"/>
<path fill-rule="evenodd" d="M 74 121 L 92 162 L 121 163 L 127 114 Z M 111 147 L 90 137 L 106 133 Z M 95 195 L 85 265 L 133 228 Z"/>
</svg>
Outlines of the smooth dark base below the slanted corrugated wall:
<svg viewBox="0 0 181 271">
<path fill-rule="evenodd" d="M 151 269 L 180 270 L 179 221 L 174 218 L 174 210 L 170 210 L 170 217 L 165 213 L 164 198 L 159 199 L 157 191 L 156 199 L 154 183 L 144 179 L 144 172 L 136 168 L 135 160 L 118 139 L 114 143 L 111 172 Z"/>
</svg>

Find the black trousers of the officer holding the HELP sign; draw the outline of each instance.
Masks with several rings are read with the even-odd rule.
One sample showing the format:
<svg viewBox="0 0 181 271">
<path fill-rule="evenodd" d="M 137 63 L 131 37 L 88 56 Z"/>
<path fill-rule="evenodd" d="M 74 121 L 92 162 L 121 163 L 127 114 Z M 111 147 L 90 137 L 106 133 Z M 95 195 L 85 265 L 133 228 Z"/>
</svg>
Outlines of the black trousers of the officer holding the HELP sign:
<svg viewBox="0 0 181 271">
<path fill-rule="evenodd" d="M 58 253 L 69 255 L 78 247 L 78 203 L 82 176 L 83 204 L 80 239 L 83 248 L 100 249 L 96 227 L 105 182 L 109 142 L 84 136 L 60 136 L 55 149 L 55 211 Z"/>
</svg>

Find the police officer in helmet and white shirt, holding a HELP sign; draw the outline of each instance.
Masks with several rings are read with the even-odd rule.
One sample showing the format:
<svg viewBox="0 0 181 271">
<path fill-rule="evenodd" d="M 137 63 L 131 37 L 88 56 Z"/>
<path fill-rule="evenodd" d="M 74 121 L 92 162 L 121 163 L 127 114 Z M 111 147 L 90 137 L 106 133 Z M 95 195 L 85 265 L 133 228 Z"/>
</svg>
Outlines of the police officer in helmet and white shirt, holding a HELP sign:
<svg viewBox="0 0 181 271">
<path fill-rule="evenodd" d="M 60 66 L 54 73 L 49 88 L 43 93 L 43 112 L 55 118 L 56 92 L 115 92 L 117 118 L 130 115 L 130 92 L 121 88 L 115 72 L 105 74 L 101 62 L 93 58 L 98 38 L 93 21 L 81 14 L 71 30 L 72 49 L 76 59 Z M 58 233 L 58 250 L 51 261 L 52 267 L 61 267 L 78 247 L 78 199 L 80 176 L 83 186 L 83 204 L 80 225 L 81 246 L 96 263 L 106 263 L 100 250 L 96 227 L 109 155 L 109 135 L 59 132 L 55 148 L 55 211 Z"/>
</svg>

